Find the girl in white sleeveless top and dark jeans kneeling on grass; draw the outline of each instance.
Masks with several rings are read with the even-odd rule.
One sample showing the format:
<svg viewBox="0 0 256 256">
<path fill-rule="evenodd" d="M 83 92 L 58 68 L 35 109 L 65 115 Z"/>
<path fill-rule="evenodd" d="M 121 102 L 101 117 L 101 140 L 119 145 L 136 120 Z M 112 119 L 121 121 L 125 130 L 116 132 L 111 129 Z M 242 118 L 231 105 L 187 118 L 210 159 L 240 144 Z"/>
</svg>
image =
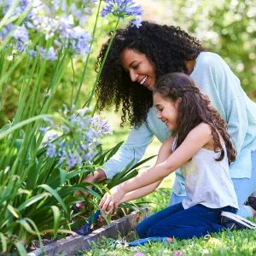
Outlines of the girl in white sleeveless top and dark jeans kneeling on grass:
<svg viewBox="0 0 256 256">
<path fill-rule="evenodd" d="M 184 73 L 162 76 L 153 94 L 157 117 L 173 131 L 172 137 L 162 144 L 154 167 L 111 189 L 100 206 L 109 213 L 122 202 L 148 195 L 180 167 L 188 199 L 144 220 L 137 226 L 138 236 L 188 239 L 226 229 L 219 224 L 221 212 L 238 209 L 229 172 L 236 149 L 227 125 Z"/>
</svg>

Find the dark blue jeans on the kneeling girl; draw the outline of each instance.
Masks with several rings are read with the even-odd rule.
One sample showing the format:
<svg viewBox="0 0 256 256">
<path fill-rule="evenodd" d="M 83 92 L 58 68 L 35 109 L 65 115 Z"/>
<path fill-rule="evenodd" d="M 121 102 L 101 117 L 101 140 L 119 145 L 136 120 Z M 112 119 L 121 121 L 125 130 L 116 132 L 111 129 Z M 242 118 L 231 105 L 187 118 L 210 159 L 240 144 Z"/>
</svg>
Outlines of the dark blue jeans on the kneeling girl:
<svg viewBox="0 0 256 256">
<path fill-rule="evenodd" d="M 211 209 L 202 205 L 184 210 L 179 203 L 143 220 L 137 225 L 137 234 L 140 238 L 174 236 L 180 240 L 206 236 L 224 229 L 218 224 L 222 211 L 236 213 L 237 210 L 233 207 Z"/>
</svg>

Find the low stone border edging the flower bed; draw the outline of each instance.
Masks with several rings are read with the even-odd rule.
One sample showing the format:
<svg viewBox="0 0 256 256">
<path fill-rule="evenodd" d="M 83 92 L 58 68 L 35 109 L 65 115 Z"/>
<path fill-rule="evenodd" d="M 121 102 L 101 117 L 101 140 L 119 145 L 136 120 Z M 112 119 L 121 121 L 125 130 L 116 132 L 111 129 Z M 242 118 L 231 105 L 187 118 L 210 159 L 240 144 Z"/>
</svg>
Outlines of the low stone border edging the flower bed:
<svg viewBox="0 0 256 256">
<path fill-rule="evenodd" d="M 101 229 L 94 230 L 88 236 L 67 236 L 65 239 L 54 241 L 44 247 L 47 256 L 54 256 L 57 253 L 73 255 L 81 249 L 90 249 L 91 241 L 98 241 L 102 237 L 116 238 L 118 235 L 125 236 L 129 231 L 135 230 L 138 223 L 150 215 L 149 207 L 143 208 L 144 212 L 134 211 L 129 215 L 114 220 L 111 224 L 103 226 Z M 27 253 L 29 256 L 43 255 L 41 249 Z"/>
</svg>

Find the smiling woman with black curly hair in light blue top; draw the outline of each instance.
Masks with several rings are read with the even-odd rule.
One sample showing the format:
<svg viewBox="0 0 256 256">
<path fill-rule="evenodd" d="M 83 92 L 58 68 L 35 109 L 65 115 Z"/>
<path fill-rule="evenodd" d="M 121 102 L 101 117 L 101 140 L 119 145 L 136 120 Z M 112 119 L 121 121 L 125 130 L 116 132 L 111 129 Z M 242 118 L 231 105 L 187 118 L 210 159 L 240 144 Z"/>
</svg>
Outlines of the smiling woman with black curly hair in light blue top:
<svg viewBox="0 0 256 256">
<path fill-rule="evenodd" d="M 98 56 L 100 67 L 108 48 L 104 44 Z M 161 75 L 182 72 L 195 79 L 199 89 L 209 96 L 212 105 L 229 125 L 229 134 L 236 146 L 237 158 L 230 166 L 242 217 L 255 217 L 253 207 L 243 206 L 256 188 L 256 104 L 241 89 L 240 81 L 230 67 L 216 54 L 207 52 L 201 43 L 179 27 L 160 26 L 143 21 L 139 28 L 119 29 L 113 38 L 108 58 L 96 88 L 98 109 L 122 106 L 122 124 L 134 127 L 125 145 L 102 169 L 86 182 L 112 178 L 132 159 L 143 157 L 148 143 L 155 136 L 161 143 L 172 132 L 156 118 L 152 90 Z M 170 205 L 186 196 L 184 179 L 177 170 Z"/>
</svg>

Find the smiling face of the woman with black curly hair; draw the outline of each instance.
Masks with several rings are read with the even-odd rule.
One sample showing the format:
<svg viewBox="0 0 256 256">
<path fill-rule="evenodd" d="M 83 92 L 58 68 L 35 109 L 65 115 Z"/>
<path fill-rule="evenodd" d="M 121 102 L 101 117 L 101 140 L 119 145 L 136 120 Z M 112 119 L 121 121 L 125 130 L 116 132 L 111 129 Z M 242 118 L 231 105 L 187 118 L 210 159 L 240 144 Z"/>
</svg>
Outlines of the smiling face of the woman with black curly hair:
<svg viewBox="0 0 256 256">
<path fill-rule="evenodd" d="M 133 49 L 124 49 L 120 53 L 120 61 L 125 72 L 129 73 L 132 82 L 137 82 L 153 90 L 155 83 L 154 65 L 146 55 Z"/>
</svg>

